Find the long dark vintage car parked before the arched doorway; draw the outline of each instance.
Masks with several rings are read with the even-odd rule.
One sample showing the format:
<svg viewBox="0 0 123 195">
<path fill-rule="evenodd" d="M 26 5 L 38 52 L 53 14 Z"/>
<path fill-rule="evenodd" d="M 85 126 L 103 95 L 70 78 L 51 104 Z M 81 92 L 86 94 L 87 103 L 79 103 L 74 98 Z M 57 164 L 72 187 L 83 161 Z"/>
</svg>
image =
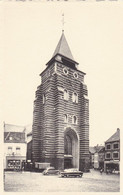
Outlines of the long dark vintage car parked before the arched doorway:
<svg viewBox="0 0 123 195">
<path fill-rule="evenodd" d="M 78 169 L 65 169 L 60 172 L 61 177 L 82 177 L 83 172 Z"/>
</svg>

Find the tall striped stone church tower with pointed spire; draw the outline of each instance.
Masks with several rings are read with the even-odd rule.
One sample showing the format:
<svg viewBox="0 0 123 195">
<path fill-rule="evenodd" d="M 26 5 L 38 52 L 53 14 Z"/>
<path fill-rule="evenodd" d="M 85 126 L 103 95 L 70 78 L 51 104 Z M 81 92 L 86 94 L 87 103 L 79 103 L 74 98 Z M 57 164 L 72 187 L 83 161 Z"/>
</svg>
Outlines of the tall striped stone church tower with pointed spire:
<svg viewBox="0 0 123 195">
<path fill-rule="evenodd" d="M 33 112 L 32 160 L 89 169 L 89 100 L 64 32 L 40 74 Z"/>
</svg>

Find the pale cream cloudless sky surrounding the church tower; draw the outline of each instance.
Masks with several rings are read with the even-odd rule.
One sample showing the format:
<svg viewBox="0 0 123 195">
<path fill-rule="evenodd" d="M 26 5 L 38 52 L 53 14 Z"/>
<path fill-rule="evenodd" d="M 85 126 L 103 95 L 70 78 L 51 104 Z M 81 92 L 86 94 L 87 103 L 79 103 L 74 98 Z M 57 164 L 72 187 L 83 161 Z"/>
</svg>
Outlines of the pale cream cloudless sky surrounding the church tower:
<svg viewBox="0 0 123 195">
<path fill-rule="evenodd" d="M 2 120 L 29 125 L 39 74 L 64 33 L 88 87 L 90 145 L 123 126 L 123 4 L 4 3 Z"/>
</svg>

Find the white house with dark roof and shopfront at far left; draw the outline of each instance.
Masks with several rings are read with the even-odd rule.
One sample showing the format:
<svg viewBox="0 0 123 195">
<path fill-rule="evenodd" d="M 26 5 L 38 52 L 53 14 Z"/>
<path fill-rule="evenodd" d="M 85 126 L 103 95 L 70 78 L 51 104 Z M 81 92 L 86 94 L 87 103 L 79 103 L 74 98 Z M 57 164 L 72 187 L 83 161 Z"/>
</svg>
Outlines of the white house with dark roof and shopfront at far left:
<svg viewBox="0 0 123 195">
<path fill-rule="evenodd" d="M 25 127 L 4 124 L 4 169 L 21 170 L 26 161 Z"/>
</svg>

